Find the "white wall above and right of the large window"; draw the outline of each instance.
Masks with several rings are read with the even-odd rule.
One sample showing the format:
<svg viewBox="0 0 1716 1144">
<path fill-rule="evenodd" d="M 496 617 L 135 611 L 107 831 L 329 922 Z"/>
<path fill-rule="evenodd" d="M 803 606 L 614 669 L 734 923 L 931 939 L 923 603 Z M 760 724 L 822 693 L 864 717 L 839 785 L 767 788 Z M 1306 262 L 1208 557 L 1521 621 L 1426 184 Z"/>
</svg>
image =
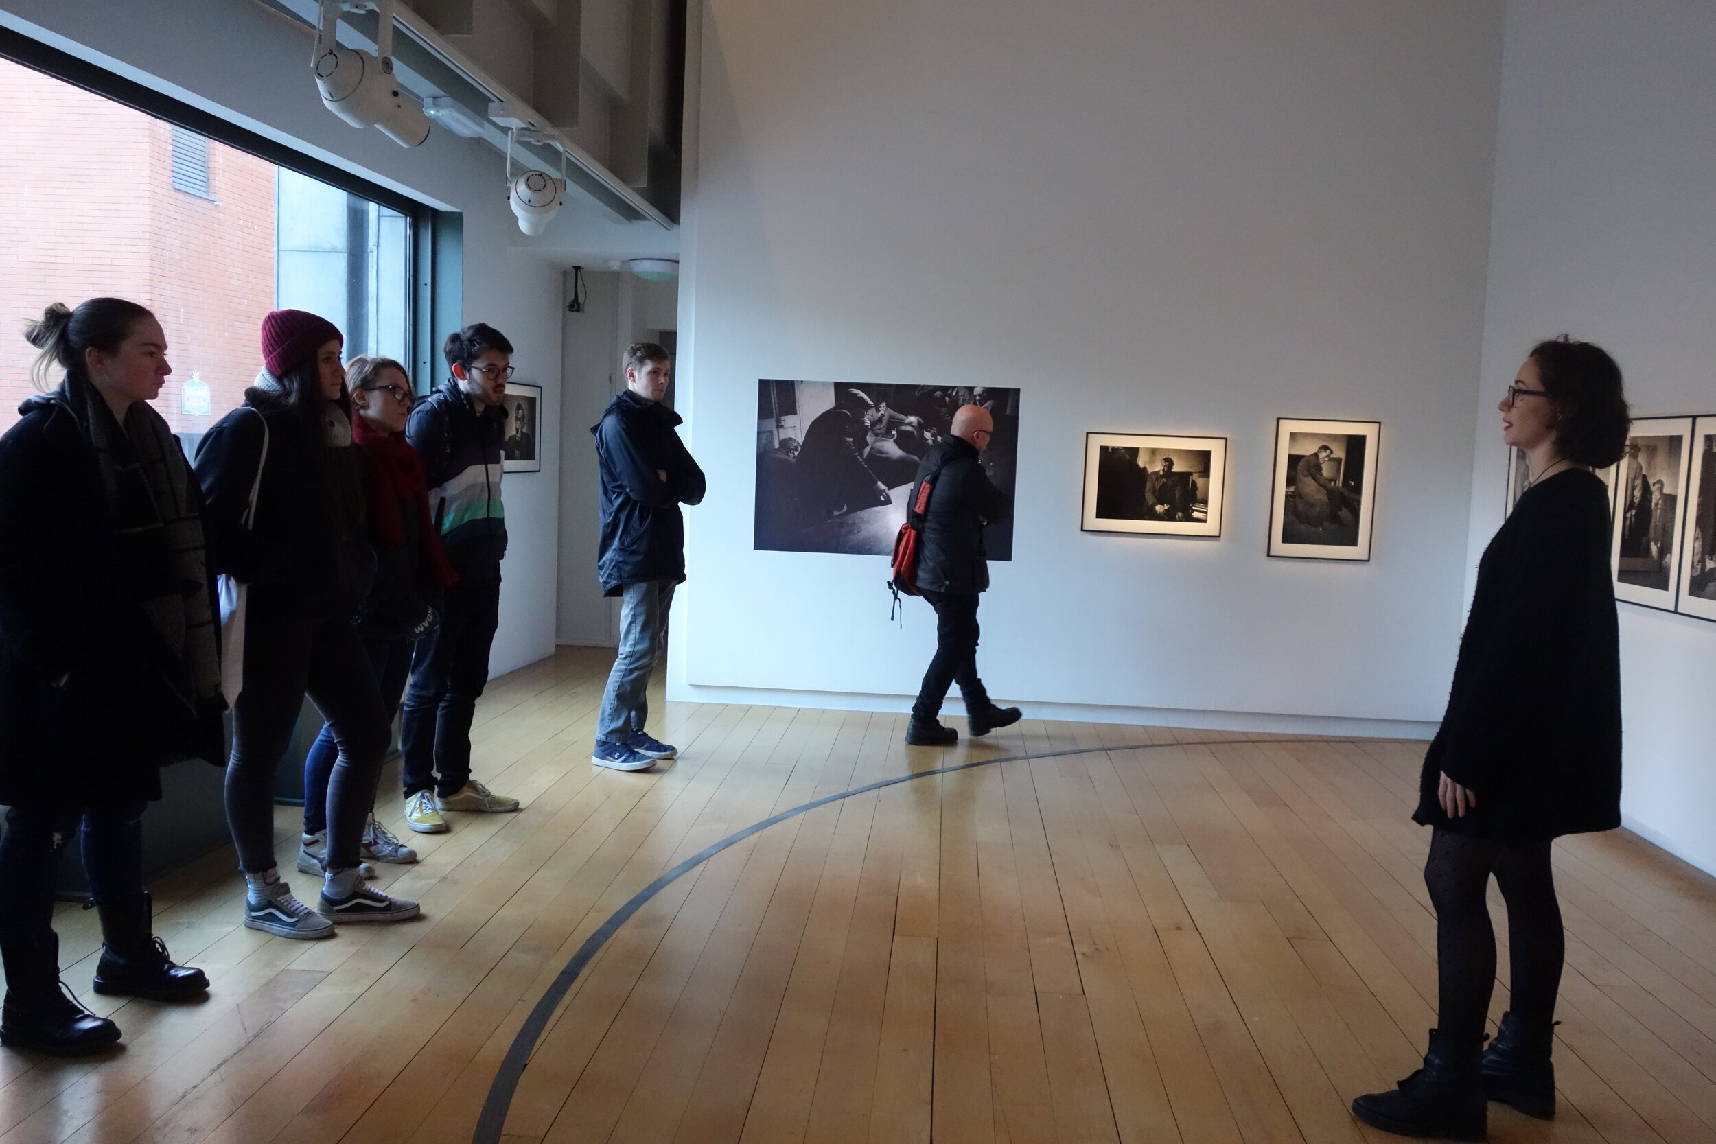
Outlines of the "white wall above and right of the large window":
<svg viewBox="0 0 1716 1144">
<path fill-rule="evenodd" d="M 501 156 L 444 130 L 407 151 L 374 129 L 357 130 L 335 118 L 316 94 L 311 31 L 252 0 L 0 0 L 0 21 L 410 197 L 463 213 L 465 321 L 487 321 L 506 333 L 518 350 L 518 381 L 541 384 L 546 406 L 542 472 L 511 473 L 505 482 L 511 542 L 491 671 L 501 674 L 553 653 L 554 631 L 542 617 L 554 614 L 558 563 L 561 276 L 518 233 L 506 208 Z M 570 226 L 566 214 L 571 211 L 559 221 Z M 592 242 L 618 240 L 599 235 Z"/>
</svg>

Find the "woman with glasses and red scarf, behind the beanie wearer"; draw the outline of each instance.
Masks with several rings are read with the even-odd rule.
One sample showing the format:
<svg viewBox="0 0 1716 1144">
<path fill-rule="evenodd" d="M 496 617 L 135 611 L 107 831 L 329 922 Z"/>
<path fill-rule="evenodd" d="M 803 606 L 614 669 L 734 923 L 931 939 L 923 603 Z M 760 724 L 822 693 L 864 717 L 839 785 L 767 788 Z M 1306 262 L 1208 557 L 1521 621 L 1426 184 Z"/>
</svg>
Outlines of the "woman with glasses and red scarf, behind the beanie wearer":
<svg viewBox="0 0 1716 1144">
<path fill-rule="evenodd" d="M 369 544 L 376 551 L 376 583 L 357 612 L 357 633 L 381 684 L 388 722 L 400 710 L 412 648 L 434 629 L 443 593 L 458 573 L 441 551 L 441 539 L 429 520 L 429 484 L 417 449 L 405 439 L 412 412 L 412 381 L 405 367 L 386 357 L 357 357 L 345 367 L 352 391 L 352 441 L 364 453 L 369 470 Z M 316 873 L 326 852 L 328 777 L 338 746 L 331 726 L 304 756 L 304 839 L 299 870 Z M 414 863 L 417 851 L 402 844 L 376 822 L 371 789 L 369 822 L 360 854 L 378 863 Z"/>
</svg>

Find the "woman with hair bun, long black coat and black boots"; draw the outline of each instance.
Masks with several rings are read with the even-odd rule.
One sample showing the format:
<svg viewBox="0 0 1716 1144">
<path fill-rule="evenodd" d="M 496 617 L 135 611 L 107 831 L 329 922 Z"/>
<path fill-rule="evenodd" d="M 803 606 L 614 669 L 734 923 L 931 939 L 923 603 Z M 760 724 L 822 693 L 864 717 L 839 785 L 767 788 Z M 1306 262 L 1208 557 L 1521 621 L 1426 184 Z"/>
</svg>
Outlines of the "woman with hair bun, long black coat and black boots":
<svg viewBox="0 0 1716 1144">
<path fill-rule="evenodd" d="M 223 703 L 202 497 L 149 406 L 172 372 L 161 324 L 91 298 L 26 338 L 43 394 L 0 437 L 0 1039 L 72 1057 L 120 1038 L 60 984 L 53 887 L 74 835 L 101 916 L 96 991 L 208 990 L 153 933 L 142 811 L 163 765 L 223 760 Z"/>
</svg>

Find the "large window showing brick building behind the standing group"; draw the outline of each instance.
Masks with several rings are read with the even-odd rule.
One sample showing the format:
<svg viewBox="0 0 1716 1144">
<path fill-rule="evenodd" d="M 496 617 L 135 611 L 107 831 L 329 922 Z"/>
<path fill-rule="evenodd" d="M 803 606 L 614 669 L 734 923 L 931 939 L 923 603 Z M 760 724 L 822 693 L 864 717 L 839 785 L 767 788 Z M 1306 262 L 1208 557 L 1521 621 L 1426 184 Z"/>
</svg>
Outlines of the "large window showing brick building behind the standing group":
<svg viewBox="0 0 1716 1144">
<path fill-rule="evenodd" d="M 154 408 L 187 446 L 244 401 L 271 309 L 324 316 L 348 358 L 412 362 L 412 216 L 5 58 L 0 105 L 0 432 L 34 393 L 19 329 L 50 302 L 154 310 L 173 364 Z"/>
</svg>

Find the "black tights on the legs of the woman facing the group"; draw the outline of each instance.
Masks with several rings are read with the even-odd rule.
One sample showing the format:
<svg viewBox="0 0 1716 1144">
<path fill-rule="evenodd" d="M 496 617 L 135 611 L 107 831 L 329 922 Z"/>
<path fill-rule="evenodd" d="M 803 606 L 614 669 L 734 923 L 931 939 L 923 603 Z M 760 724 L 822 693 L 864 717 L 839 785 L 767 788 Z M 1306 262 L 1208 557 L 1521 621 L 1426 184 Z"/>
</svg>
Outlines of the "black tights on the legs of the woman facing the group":
<svg viewBox="0 0 1716 1144">
<path fill-rule="evenodd" d="M 1491 873 L 1507 900 L 1508 1009 L 1522 1021 L 1548 1024 L 1562 988 L 1565 938 L 1550 844 L 1503 846 L 1438 828 L 1429 839 L 1424 885 L 1436 906 L 1436 1026 L 1455 1043 L 1483 1038 L 1489 1019 L 1496 935 L 1484 895 Z"/>
</svg>

